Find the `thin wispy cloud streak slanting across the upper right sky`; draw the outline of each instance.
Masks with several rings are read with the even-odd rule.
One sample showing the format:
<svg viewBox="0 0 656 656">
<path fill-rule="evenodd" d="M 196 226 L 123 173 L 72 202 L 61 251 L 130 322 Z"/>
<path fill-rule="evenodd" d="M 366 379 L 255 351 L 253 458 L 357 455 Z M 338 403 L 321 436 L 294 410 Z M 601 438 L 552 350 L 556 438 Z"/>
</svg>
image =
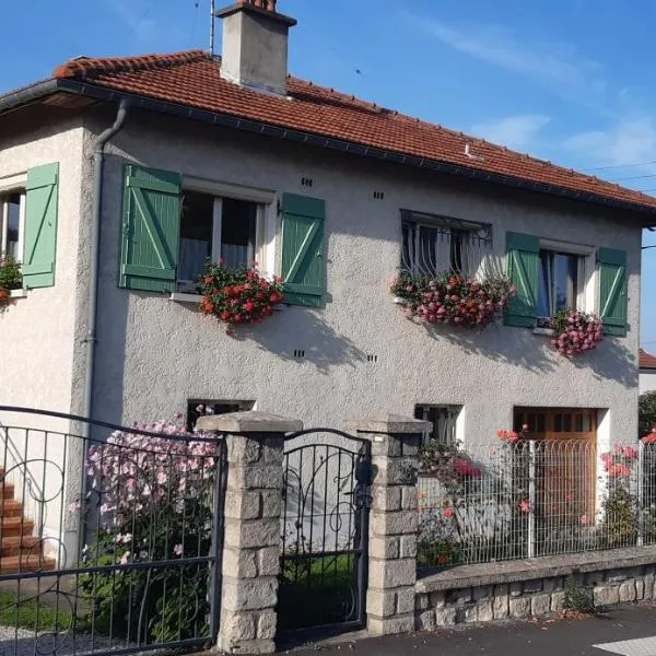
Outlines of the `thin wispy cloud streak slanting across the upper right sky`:
<svg viewBox="0 0 656 656">
<path fill-rule="evenodd" d="M 406 17 L 459 52 L 530 78 L 561 96 L 598 104 L 606 93 L 601 66 L 583 57 L 571 44 L 529 42 L 499 25 L 454 26 L 409 14 Z"/>
</svg>

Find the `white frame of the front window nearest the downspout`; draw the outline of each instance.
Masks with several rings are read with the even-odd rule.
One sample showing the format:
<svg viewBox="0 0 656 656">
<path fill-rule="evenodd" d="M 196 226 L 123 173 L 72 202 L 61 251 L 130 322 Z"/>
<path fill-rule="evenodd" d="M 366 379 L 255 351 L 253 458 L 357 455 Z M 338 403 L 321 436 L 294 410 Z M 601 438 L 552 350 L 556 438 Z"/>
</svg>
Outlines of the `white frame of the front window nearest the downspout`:
<svg viewBox="0 0 656 656">
<path fill-rule="evenodd" d="M 259 270 L 265 274 L 272 277 L 276 273 L 276 236 L 278 233 L 277 222 L 277 195 L 274 191 L 220 183 L 196 177 L 183 177 L 181 194 L 192 191 L 213 197 L 212 208 L 212 246 L 211 257 L 216 261 L 221 255 L 221 231 L 223 224 L 223 199 L 242 200 L 257 204 L 255 221 L 255 243 L 254 259 L 258 262 Z M 180 218 L 181 221 L 181 218 Z M 198 272 L 199 274 L 202 271 Z M 179 296 L 192 295 L 188 291 L 194 281 L 179 280 L 176 271 L 176 293 L 178 296 L 174 300 L 184 300 Z M 195 286 L 195 285 L 194 285 Z"/>
</svg>

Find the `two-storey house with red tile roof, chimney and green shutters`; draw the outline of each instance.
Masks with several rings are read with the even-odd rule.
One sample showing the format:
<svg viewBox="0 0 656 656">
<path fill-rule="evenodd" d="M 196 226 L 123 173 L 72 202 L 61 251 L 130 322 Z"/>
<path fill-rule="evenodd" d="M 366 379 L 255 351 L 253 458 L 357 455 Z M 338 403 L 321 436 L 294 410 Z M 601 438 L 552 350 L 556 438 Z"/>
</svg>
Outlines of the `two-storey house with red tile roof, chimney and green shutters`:
<svg viewBox="0 0 656 656">
<path fill-rule="evenodd" d="M 656 198 L 289 75 L 276 2 L 218 15 L 222 58 L 79 57 L 0 98 L 2 250 L 24 276 L 0 319 L 2 402 L 632 438 Z M 194 294 L 208 256 L 257 260 L 286 305 L 226 335 Z M 389 293 L 399 270 L 506 261 L 518 295 L 484 330 L 418 325 Z M 578 359 L 543 327 L 573 306 L 607 332 Z"/>
</svg>

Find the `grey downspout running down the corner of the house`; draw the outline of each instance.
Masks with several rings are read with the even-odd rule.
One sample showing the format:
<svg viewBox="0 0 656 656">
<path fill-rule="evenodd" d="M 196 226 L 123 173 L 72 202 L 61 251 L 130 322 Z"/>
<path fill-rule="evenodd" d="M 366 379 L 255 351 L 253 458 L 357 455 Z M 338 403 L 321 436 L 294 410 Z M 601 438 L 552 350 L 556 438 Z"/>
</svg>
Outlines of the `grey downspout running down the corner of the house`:
<svg viewBox="0 0 656 656">
<path fill-rule="evenodd" d="M 84 396 L 82 415 L 91 419 L 93 401 L 93 374 L 95 368 L 96 326 L 98 306 L 98 269 L 101 244 L 101 215 L 103 209 L 103 168 L 105 163 L 105 145 L 124 126 L 128 116 L 129 101 L 122 98 L 118 106 L 116 119 L 110 128 L 98 134 L 93 144 L 93 186 L 91 213 L 91 248 L 89 265 L 89 304 L 86 318 L 86 370 L 84 372 Z M 90 424 L 84 424 L 83 435 L 89 437 Z M 82 468 L 84 469 L 84 468 Z"/>
</svg>

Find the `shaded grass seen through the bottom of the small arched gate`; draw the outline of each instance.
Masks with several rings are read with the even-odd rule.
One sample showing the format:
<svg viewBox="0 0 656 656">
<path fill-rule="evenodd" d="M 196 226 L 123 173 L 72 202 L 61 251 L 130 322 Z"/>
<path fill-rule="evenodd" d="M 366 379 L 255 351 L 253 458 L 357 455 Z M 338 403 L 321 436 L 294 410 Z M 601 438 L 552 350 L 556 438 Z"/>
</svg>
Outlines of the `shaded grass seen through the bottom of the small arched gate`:
<svg viewBox="0 0 656 656">
<path fill-rule="evenodd" d="M 356 579 L 353 555 L 285 560 L 278 595 L 280 628 L 343 622 L 354 602 Z"/>
</svg>

